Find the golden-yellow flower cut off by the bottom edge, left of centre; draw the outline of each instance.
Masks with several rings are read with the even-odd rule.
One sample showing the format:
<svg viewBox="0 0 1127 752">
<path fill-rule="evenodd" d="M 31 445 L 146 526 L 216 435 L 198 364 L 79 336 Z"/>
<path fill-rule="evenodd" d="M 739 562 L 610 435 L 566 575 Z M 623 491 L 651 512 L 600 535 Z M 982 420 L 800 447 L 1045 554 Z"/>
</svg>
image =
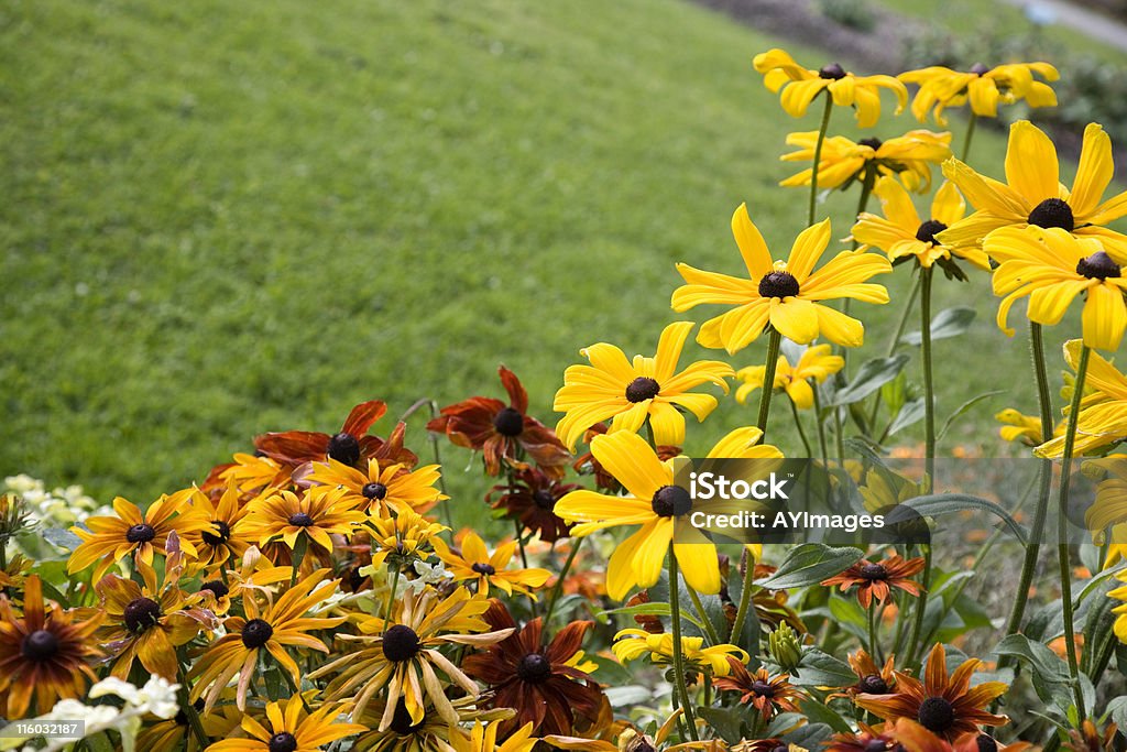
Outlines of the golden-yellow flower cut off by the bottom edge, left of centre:
<svg viewBox="0 0 1127 752">
<path fill-rule="evenodd" d="M 294 695 L 285 702 L 266 705 L 266 726 L 245 715 L 241 726 L 247 736 L 215 742 L 207 752 L 318 752 L 330 742 L 367 731 L 360 724 L 336 723 L 340 713 L 334 704 L 309 713 L 302 697 Z"/>
</svg>

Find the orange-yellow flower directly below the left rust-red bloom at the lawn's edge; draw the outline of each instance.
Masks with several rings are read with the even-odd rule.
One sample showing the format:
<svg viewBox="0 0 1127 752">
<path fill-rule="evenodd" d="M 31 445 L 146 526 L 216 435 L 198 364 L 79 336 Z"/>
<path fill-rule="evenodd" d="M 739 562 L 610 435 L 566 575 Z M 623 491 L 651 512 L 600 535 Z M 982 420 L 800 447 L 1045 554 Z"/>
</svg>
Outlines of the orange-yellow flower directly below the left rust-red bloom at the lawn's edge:
<svg viewBox="0 0 1127 752">
<path fill-rule="evenodd" d="M 362 472 L 330 458 L 328 462 L 313 462 L 305 479 L 344 489 L 341 499 L 361 512 L 385 517 L 403 508 L 421 514 L 449 498 L 435 487 L 441 477 L 437 465 L 410 470 L 373 458 L 367 461 L 366 472 Z"/>
</svg>

